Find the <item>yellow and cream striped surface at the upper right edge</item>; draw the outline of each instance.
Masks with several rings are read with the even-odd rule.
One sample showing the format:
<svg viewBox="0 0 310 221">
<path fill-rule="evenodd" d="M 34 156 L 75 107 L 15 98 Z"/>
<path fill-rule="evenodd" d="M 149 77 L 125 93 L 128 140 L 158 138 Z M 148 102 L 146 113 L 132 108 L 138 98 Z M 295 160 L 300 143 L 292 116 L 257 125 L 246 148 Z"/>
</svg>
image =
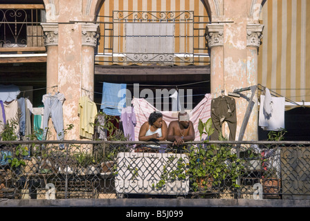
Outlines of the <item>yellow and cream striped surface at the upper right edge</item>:
<svg viewBox="0 0 310 221">
<path fill-rule="evenodd" d="M 310 102 L 310 1 L 268 0 L 258 83 L 295 102 Z"/>
</svg>

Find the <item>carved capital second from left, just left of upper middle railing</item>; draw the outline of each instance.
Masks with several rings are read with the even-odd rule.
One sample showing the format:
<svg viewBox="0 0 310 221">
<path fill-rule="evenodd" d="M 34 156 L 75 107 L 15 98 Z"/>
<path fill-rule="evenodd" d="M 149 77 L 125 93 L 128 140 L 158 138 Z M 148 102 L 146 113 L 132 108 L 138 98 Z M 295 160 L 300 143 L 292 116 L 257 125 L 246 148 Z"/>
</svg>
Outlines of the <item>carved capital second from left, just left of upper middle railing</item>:
<svg viewBox="0 0 310 221">
<path fill-rule="evenodd" d="M 82 23 L 82 46 L 97 46 L 99 24 Z"/>
</svg>

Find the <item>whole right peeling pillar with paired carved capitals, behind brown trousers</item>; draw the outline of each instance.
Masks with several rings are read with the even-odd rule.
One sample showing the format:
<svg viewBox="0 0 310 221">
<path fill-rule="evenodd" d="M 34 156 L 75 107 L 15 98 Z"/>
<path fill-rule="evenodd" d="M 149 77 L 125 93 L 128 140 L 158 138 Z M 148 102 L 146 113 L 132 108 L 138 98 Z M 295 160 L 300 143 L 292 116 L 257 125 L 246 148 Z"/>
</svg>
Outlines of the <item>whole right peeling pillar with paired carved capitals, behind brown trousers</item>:
<svg viewBox="0 0 310 221">
<path fill-rule="evenodd" d="M 253 21 L 248 14 L 249 3 L 248 0 L 223 1 L 223 12 L 216 13 L 221 16 L 213 18 L 212 23 L 206 26 L 206 40 L 210 48 L 211 93 L 215 96 L 221 95 L 222 91 L 228 95 L 236 89 L 257 86 L 257 48 L 262 37 L 262 25 L 249 23 Z M 250 104 L 252 90 L 240 94 L 239 98 L 234 97 L 237 111 L 235 140 L 257 140 L 257 95 L 253 98 L 254 104 Z M 244 126 L 242 123 L 249 104 L 253 106 Z M 224 124 L 223 127 L 227 137 L 228 126 Z"/>
</svg>

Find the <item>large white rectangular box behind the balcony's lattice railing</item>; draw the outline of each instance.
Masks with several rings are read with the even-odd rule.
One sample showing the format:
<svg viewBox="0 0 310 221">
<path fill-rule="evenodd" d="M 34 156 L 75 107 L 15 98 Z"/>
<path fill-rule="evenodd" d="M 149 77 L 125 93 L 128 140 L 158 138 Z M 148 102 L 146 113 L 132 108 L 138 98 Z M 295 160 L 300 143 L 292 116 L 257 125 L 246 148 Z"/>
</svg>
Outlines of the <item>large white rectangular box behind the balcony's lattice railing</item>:
<svg viewBox="0 0 310 221">
<path fill-rule="evenodd" d="M 185 175 L 188 164 L 188 157 L 181 153 L 118 153 L 116 193 L 185 195 L 189 177 L 173 179 L 170 173 Z"/>
</svg>

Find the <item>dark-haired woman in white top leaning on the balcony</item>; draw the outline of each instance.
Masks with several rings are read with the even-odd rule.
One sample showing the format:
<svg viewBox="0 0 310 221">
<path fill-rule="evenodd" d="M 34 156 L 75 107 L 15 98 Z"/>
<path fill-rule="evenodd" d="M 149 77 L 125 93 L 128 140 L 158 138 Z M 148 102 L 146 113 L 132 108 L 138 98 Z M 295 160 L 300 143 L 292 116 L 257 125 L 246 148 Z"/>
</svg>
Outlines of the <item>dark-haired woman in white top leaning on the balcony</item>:
<svg viewBox="0 0 310 221">
<path fill-rule="evenodd" d="M 139 140 L 140 141 L 165 141 L 167 139 L 167 124 L 166 122 L 163 120 L 163 114 L 162 113 L 158 113 L 156 111 L 154 111 L 153 113 L 151 113 L 149 115 L 149 120 L 147 122 L 145 122 L 144 124 L 142 124 L 141 128 L 140 128 L 140 132 L 139 132 Z M 147 145 L 143 145 L 143 151 L 145 149 L 147 149 L 148 151 L 150 150 L 156 150 L 156 148 L 158 149 L 160 147 L 160 145 L 158 144 L 147 144 Z M 137 151 L 140 151 L 140 149 L 138 149 Z"/>
</svg>

